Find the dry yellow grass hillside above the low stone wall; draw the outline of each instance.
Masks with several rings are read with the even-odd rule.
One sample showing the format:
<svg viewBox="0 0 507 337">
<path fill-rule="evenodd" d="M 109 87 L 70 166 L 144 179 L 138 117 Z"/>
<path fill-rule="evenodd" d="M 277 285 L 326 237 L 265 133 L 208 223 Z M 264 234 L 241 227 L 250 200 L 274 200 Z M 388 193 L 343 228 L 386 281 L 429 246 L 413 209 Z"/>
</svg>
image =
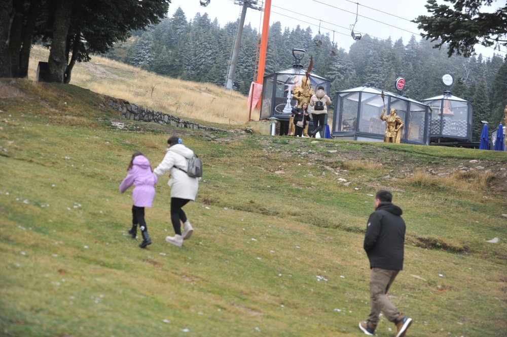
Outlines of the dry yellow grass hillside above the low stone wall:
<svg viewBox="0 0 507 337">
<path fill-rule="evenodd" d="M 32 48 L 28 78 L 35 80 L 39 61 L 46 62 L 49 51 Z M 92 56 L 90 62 L 77 63 L 71 84 L 130 103 L 174 114 L 183 118 L 240 125 L 248 122 L 247 97 L 211 83 L 184 81 Z M 259 119 L 252 110 L 251 119 Z"/>
</svg>

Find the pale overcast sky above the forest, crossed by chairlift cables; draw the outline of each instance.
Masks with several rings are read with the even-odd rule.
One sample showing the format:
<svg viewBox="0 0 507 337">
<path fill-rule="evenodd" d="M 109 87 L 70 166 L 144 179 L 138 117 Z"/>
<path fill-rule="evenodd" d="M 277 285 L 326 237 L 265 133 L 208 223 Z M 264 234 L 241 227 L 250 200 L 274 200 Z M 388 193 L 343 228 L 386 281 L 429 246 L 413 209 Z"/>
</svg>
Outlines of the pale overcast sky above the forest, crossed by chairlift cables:
<svg viewBox="0 0 507 337">
<path fill-rule="evenodd" d="M 485 7 L 487 11 L 493 11 L 502 4 L 503 0 L 496 1 L 493 6 Z M 359 3 L 359 6 L 357 6 Z M 263 4 L 258 1 L 259 6 Z M 428 15 L 426 0 L 271 0 L 270 25 L 280 21 L 282 29 L 289 27 L 296 28 L 299 24 L 302 28 L 310 27 L 314 34 L 319 31 L 322 34 L 329 34 L 330 39 L 338 43 L 339 48 L 347 52 L 354 40 L 350 36 L 350 25 L 354 24 L 358 7 L 357 23 L 354 32 L 369 34 L 379 39 L 396 41 L 403 38 L 404 45 L 407 45 L 410 37 L 419 31 L 417 24 L 410 22 L 419 15 Z M 211 21 L 218 19 L 223 27 L 228 22 L 233 22 L 241 15 L 241 5 L 234 4 L 234 0 L 210 0 L 207 7 L 200 6 L 200 0 L 172 0 L 169 5 L 169 17 L 172 17 L 178 7 L 181 7 L 187 17 L 191 20 L 196 13 L 203 15 L 208 13 Z M 248 8 L 246 11 L 245 24 L 250 23 L 252 28 L 262 31 L 261 11 Z M 294 46 L 297 47 L 297 46 Z M 477 54 L 482 53 L 484 57 L 491 57 L 495 52 L 493 48 L 476 47 Z M 496 51 L 504 57 L 505 48 L 501 52 Z"/>
</svg>

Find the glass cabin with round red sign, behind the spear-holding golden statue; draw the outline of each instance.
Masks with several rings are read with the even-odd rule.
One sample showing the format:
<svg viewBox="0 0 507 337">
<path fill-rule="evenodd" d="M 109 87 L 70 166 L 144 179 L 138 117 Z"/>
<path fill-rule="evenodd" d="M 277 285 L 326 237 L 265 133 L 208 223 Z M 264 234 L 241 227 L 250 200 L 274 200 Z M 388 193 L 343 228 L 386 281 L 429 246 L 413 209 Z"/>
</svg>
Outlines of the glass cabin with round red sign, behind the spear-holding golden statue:
<svg viewBox="0 0 507 337">
<path fill-rule="evenodd" d="M 358 141 L 383 142 L 385 121 L 379 117 L 394 108 L 405 124 L 401 142 L 429 145 L 429 121 L 431 109 L 428 105 L 405 96 L 364 85 L 335 94 L 335 113 L 331 137 Z"/>
</svg>

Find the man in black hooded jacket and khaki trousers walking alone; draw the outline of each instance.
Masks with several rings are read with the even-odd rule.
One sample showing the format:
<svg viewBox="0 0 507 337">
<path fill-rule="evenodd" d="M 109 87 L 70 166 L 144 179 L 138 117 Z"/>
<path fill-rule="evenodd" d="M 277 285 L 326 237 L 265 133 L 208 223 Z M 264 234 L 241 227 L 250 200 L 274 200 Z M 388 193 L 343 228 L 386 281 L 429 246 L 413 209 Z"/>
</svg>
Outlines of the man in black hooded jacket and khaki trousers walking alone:
<svg viewBox="0 0 507 337">
<path fill-rule="evenodd" d="M 389 191 L 375 195 L 375 212 L 368 219 L 364 248 L 370 260 L 370 302 L 368 320 L 359 322 L 359 328 L 369 336 L 375 334 L 380 311 L 396 325 L 396 337 L 403 337 L 412 324 L 412 318 L 403 316 L 387 298 L 387 291 L 396 275 L 403 269 L 405 221 L 402 209 L 391 203 Z"/>
</svg>

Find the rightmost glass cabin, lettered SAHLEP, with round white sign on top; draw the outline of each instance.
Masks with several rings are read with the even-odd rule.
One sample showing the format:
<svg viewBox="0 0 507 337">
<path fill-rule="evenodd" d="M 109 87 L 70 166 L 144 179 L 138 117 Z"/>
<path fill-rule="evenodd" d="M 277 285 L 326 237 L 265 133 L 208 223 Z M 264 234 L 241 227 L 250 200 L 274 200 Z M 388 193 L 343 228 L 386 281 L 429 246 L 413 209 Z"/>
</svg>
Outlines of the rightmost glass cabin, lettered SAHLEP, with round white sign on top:
<svg viewBox="0 0 507 337">
<path fill-rule="evenodd" d="M 462 98 L 444 95 L 422 100 L 432 110 L 429 133 L 431 142 L 465 140 L 472 142 L 472 104 Z"/>
</svg>

